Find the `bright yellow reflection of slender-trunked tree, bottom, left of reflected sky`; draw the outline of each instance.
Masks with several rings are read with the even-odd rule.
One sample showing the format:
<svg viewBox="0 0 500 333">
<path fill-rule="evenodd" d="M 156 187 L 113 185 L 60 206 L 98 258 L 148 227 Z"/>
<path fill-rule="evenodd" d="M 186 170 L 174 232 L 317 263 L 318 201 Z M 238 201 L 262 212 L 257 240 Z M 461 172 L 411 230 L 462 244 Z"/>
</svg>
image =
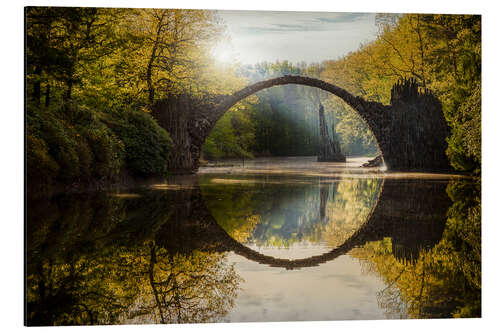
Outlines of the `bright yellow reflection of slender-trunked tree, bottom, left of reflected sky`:
<svg viewBox="0 0 500 333">
<path fill-rule="evenodd" d="M 133 322 L 214 322 L 234 304 L 240 278 L 220 254 L 172 255 L 151 244 L 149 292 L 139 296 Z M 144 314 L 146 314 L 144 316 Z"/>
</svg>

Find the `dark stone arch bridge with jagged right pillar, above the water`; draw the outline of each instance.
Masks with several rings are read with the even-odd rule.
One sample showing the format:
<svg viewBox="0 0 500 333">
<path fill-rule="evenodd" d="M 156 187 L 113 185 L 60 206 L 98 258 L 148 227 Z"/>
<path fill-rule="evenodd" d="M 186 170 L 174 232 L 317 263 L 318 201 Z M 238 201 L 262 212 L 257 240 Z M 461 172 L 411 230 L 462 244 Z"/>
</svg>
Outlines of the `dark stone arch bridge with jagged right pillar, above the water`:
<svg viewBox="0 0 500 333">
<path fill-rule="evenodd" d="M 240 100 L 273 86 L 298 84 L 316 87 L 341 98 L 363 119 L 390 170 L 441 171 L 449 169 L 445 155 L 448 128 L 441 104 L 413 80 L 396 83 L 391 104 L 366 101 L 315 78 L 287 75 L 257 82 L 232 95 L 194 98 L 187 94 L 160 100 L 153 116 L 174 141 L 169 169 L 174 174 L 195 173 L 201 146 L 216 122 Z"/>
</svg>

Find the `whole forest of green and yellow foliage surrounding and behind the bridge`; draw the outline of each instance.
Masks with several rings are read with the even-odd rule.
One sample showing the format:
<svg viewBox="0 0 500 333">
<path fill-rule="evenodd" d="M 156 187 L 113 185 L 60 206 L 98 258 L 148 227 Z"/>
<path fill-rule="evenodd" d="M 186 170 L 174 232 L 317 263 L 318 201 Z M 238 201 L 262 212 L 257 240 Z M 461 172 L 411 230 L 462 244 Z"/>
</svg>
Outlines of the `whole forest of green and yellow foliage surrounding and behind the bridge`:
<svg viewBox="0 0 500 333">
<path fill-rule="evenodd" d="M 155 102 L 229 94 L 286 74 L 384 104 L 396 81 L 415 79 L 443 106 L 451 166 L 480 175 L 480 16 L 378 14 L 376 25 L 375 40 L 339 59 L 222 65 L 210 52 L 225 33 L 216 11 L 27 7 L 28 188 L 164 176 L 173 143 L 151 116 Z M 315 155 L 320 102 L 348 156 L 377 154 L 369 129 L 340 99 L 281 86 L 227 112 L 202 158 Z"/>
</svg>

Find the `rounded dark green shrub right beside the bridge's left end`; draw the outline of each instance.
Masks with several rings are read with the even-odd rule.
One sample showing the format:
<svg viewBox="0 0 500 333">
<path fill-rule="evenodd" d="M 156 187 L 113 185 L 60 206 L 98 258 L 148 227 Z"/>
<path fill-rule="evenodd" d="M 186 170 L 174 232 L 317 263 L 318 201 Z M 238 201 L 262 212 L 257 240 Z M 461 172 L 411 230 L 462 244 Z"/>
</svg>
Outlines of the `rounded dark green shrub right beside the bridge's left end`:
<svg viewBox="0 0 500 333">
<path fill-rule="evenodd" d="M 134 175 L 163 175 L 172 148 L 169 134 L 143 111 L 110 112 L 102 120 L 125 144 L 125 165 Z"/>
</svg>

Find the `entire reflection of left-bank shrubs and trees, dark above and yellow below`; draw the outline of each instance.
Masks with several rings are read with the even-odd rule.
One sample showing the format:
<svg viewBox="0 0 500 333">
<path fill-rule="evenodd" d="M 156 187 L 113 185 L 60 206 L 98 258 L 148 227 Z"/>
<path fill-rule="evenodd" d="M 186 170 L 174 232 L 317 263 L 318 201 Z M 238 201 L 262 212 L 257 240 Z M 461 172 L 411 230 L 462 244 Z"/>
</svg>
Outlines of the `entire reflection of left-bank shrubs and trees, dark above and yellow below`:
<svg viewBox="0 0 500 333">
<path fill-rule="evenodd" d="M 176 198 L 179 205 L 185 196 L 152 191 L 29 202 L 27 323 L 207 322 L 223 316 L 240 283 L 224 255 L 151 246 L 162 226 L 175 225 L 176 210 L 185 211 Z M 182 237 L 180 225 L 162 237 Z"/>
</svg>

